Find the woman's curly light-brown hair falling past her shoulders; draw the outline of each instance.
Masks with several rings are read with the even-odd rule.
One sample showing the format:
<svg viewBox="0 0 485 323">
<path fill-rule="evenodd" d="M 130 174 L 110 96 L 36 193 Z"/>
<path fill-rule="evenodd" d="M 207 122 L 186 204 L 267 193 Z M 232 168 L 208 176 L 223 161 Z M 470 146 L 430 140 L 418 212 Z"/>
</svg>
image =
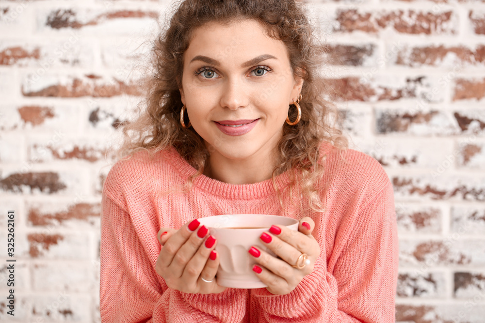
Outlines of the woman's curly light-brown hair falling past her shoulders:
<svg viewBox="0 0 485 323">
<path fill-rule="evenodd" d="M 287 46 L 291 70 L 295 77 L 302 77 L 301 120 L 296 125 L 283 125 L 283 137 L 278 143 L 280 154 L 273 170 L 272 181 L 283 207 L 281 192 L 275 177 L 290 170 L 290 197 L 293 201 L 295 185 L 299 185 L 300 207 L 303 200 L 307 207 L 323 212 L 324 206 L 318 194 L 318 182 L 323 175 L 320 145 L 330 142 L 344 150 L 348 141 L 338 127 L 337 109 L 323 99 L 325 86 L 318 75 L 323 65 L 325 45 L 314 37 L 315 29 L 307 18 L 307 9 L 294 0 L 185 0 L 177 3 L 170 24 L 157 37 L 152 48 L 153 77 L 148 80 L 147 97 L 143 113 L 133 122 L 126 123 L 124 141 L 118 158 L 132 155 L 140 149 L 151 153 L 173 146 L 177 152 L 197 170 L 187 178 L 186 190 L 206 167 L 210 152 L 193 128 L 180 124 L 182 88 L 182 55 L 189 46 L 193 32 L 209 22 L 223 25 L 242 19 L 253 19 L 267 28 L 268 36 L 281 40 Z M 290 120 L 296 119 L 297 111 L 290 108 Z M 187 123 L 187 122 L 186 122 Z M 287 189 L 285 188 L 285 190 Z M 293 202 L 294 203 L 294 202 Z"/>
</svg>

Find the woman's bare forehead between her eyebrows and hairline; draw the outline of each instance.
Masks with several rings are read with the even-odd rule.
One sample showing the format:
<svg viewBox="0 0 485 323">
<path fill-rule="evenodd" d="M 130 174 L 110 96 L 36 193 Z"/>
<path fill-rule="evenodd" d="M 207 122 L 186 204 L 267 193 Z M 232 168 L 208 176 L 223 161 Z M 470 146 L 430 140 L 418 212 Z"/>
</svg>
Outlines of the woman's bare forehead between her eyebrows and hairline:
<svg viewBox="0 0 485 323">
<path fill-rule="evenodd" d="M 258 21 L 232 21 L 227 25 L 210 22 L 194 30 L 184 62 L 189 63 L 196 55 L 205 55 L 224 64 L 246 61 L 261 54 L 289 62 L 285 43 L 268 36 Z"/>
</svg>

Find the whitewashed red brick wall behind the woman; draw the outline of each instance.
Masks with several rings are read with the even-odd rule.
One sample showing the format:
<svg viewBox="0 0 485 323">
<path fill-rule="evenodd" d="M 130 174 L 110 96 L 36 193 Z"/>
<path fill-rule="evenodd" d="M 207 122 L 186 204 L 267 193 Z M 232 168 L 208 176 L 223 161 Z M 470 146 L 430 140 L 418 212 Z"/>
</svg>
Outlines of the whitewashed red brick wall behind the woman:
<svg viewBox="0 0 485 323">
<path fill-rule="evenodd" d="M 170 1 L 0 0 L 0 241 L 16 211 L 16 316 L 100 322 L 102 181 L 143 95 Z M 400 238 L 397 322 L 485 316 L 485 0 L 309 1 L 353 147 L 387 170 Z M 10 322 L 10 321 L 9 321 Z"/>
</svg>

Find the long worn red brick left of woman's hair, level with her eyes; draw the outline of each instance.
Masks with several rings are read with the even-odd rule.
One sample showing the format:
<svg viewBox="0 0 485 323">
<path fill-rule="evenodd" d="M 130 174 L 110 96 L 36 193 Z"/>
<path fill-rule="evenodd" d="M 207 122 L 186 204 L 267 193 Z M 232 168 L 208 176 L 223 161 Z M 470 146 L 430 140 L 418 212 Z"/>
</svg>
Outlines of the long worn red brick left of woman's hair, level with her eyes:
<svg viewBox="0 0 485 323">
<path fill-rule="evenodd" d="M 35 86 L 35 89 L 33 88 Z M 27 77 L 22 84 L 24 96 L 54 96 L 54 97 L 113 97 L 117 95 L 142 95 L 140 81 L 124 82 L 116 78 L 105 79 L 96 75 L 83 77 L 69 76 L 67 80 L 58 80 L 55 84 L 42 86 L 32 82 L 32 76 Z"/>
</svg>

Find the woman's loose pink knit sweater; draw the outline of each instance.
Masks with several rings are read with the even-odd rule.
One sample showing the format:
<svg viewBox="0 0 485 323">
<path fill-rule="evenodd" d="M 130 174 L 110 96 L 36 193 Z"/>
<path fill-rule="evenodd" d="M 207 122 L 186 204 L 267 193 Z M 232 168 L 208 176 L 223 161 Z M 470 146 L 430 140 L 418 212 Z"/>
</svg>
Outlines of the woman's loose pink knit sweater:
<svg viewBox="0 0 485 323">
<path fill-rule="evenodd" d="M 392 185 L 381 165 L 322 145 L 326 211 L 301 213 L 287 193 L 281 211 L 272 181 L 232 185 L 201 175 L 189 193 L 163 195 L 195 172 L 175 149 L 117 162 L 103 186 L 100 311 L 111 322 L 394 322 L 398 241 Z M 283 189 L 288 173 L 277 177 Z M 321 247 L 314 270 L 295 290 L 228 288 L 190 294 L 167 288 L 155 272 L 162 227 L 223 214 L 310 216 Z"/>
</svg>

